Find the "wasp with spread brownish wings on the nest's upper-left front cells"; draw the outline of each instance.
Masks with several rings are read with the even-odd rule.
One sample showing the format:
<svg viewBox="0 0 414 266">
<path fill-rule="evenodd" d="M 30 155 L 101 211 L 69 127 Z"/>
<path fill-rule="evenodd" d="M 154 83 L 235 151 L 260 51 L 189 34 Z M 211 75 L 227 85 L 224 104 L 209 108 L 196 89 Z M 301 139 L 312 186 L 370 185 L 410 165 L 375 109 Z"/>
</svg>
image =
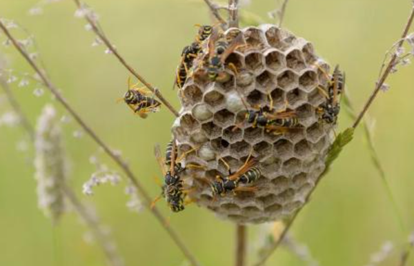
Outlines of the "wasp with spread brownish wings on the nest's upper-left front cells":
<svg viewBox="0 0 414 266">
<path fill-rule="evenodd" d="M 224 62 L 227 57 L 240 46 L 246 45 L 242 32 L 240 32 L 233 41 L 227 42 L 223 32 L 219 32 L 218 28 L 213 28 L 208 39 L 208 78 L 212 81 L 224 70 Z M 237 73 L 237 68 L 233 63 L 229 63 L 228 67 Z"/>
</svg>

